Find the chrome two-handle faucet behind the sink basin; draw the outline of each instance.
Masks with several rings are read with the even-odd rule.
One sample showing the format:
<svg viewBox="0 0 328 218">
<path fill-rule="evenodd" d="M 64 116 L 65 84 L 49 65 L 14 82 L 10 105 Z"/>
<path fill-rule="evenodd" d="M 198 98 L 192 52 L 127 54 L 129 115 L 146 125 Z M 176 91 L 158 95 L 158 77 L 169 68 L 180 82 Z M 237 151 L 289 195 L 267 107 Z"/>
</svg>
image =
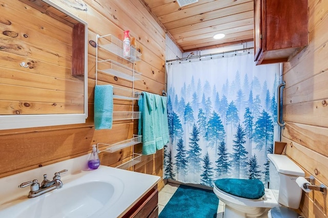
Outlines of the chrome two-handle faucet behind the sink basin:
<svg viewBox="0 0 328 218">
<path fill-rule="evenodd" d="M 37 180 L 32 180 L 18 185 L 18 188 L 25 188 L 26 186 L 31 185 L 28 198 L 38 197 L 39 195 L 63 187 L 63 182 L 60 181 L 60 175 L 66 173 L 67 171 L 67 169 L 64 169 L 56 172 L 55 176 L 52 178 L 52 181 L 47 179 L 47 174 L 43 175 L 44 180 L 41 185 L 37 182 Z"/>
</svg>

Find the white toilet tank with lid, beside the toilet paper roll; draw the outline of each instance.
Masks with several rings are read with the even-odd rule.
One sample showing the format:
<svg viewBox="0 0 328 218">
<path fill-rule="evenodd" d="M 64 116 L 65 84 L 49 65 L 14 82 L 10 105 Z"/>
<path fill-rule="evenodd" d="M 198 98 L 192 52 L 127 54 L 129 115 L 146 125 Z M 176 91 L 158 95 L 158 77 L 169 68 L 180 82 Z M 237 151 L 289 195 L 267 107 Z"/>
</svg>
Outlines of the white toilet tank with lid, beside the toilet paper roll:
<svg viewBox="0 0 328 218">
<path fill-rule="evenodd" d="M 278 203 L 297 209 L 301 201 L 302 189 L 297 185 L 296 179 L 304 177 L 304 171 L 285 155 L 268 154 L 268 158 L 270 188 L 278 190 Z"/>
</svg>

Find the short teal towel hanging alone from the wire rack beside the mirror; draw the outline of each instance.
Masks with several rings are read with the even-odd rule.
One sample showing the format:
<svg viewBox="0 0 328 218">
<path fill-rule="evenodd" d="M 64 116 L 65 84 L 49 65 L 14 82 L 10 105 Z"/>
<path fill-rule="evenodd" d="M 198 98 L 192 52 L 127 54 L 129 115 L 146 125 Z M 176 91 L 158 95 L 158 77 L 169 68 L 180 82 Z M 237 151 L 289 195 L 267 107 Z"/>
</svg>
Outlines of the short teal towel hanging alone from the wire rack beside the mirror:
<svg viewBox="0 0 328 218">
<path fill-rule="evenodd" d="M 111 129 L 113 124 L 113 86 L 96 85 L 94 89 L 95 129 Z"/>
</svg>

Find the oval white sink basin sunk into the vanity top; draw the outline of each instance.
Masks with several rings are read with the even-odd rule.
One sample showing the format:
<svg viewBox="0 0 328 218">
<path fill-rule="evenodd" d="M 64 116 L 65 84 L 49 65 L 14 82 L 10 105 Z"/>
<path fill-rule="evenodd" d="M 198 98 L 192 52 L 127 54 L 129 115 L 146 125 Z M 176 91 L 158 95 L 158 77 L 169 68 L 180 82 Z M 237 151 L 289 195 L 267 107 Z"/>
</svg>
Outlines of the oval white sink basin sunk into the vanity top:
<svg viewBox="0 0 328 218">
<path fill-rule="evenodd" d="M 17 217 L 90 217 L 113 198 L 114 186 L 106 182 L 88 182 L 36 197 L 37 203 L 23 210 Z"/>
</svg>

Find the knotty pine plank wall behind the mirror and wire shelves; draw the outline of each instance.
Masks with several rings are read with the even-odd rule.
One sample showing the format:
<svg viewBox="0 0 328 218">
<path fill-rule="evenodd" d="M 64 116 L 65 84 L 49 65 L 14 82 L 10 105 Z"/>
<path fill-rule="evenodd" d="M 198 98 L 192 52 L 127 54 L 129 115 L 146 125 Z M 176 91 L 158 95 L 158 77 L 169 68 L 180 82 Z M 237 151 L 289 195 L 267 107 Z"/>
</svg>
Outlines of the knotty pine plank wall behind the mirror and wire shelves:
<svg viewBox="0 0 328 218">
<path fill-rule="evenodd" d="M 96 41 L 96 34 L 113 34 L 122 38 L 124 30 L 130 30 L 136 38 L 137 47 L 142 52 L 142 60 L 135 63 L 135 69 L 142 73 L 141 79 L 134 83 L 134 88 L 161 95 L 166 89 L 165 83 L 165 32 L 154 18 L 142 6 L 139 0 L 52 0 L 52 2 L 88 23 L 88 42 Z M 0 0 L 0 8 L 12 7 L 16 10 L 29 11 L 18 0 Z M 2 10 L 2 9 L 1 9 Z M 24 20 L 23 13 L 16 13 Z M 0 21 L 4 21 L 0 18 Z M 28 24 L 27 24 L 28 25 Z M 95 86 L 96 49 L 88 43 L 88 108 L 89 116 L 85 124 L 47 126 L 0 131 L 0 150 L 2 163 L 0 178 L 14 173 L 41 167 L 58 161 L 88 154 L 95 143 L 116 143 L 132 138 L 137 134 L 138 121 L 116 121 L 110 130 L 95 130 L 93 123 L 93 102 Z M 0 52 L 1 54 L 1 52 Z M 132 63 L 112 57 L 115 61 L 132 68 Z M 2 62 L 6 62 L 2 58 Z M 130 81 L 113 76 L 100 77 L 98 84 L 113 84 L 122 88 L 132 88 Z M 137 111 L 137 102 L 133 102 Z M 114 111 L 131 111 L 132 102 L 114 100 Z M 135 146 L 140 151 L 141 146 Z M 114 153 L 100 153 L 101 164 L 117 166 L 132 158 L 132 148 L 125 148 Z M 135 166 L 135 171 L 162 177 L 163 151 L 155 155 L 143 156 Z M 60 169 L 59 169 L 60 170 Z M 42 176 L 42 175 L 40 175 Z M 41 179 L 41 178 L 38 178 Z M 162 183 L 159 184 L 159 188 Z"/>
</svg>

